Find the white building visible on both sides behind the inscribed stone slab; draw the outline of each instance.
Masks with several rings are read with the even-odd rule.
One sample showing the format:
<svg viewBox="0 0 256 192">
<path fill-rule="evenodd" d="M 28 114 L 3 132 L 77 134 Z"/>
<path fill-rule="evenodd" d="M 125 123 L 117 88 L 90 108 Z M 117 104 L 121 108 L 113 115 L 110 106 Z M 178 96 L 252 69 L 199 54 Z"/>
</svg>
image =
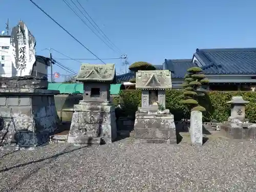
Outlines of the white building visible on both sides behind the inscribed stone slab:
<svg viewBox="0 0 256 192">
<path fill-rule="evenodd" d="M 10 48 L 10 35 L 0 35 L 0 76 L 11 77 L 15 75 L 15 68 L 12 65 Z M 33 67 L 32 75 L 46 76 L 50 66 L 50 59 L 36 55 L 36 63 Z"/>
</svg>

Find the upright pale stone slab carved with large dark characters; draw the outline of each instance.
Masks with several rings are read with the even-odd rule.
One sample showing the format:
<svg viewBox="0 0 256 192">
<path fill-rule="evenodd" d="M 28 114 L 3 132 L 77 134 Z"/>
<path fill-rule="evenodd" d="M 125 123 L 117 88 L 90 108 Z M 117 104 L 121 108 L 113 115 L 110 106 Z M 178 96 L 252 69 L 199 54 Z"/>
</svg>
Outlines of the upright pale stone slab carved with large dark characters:
<svg viewBox="0 0 256 192">
<path fill-rule="evenodd" d="M 12 28 L 10 38 L 10 55 L 14 69 L 14 76 L 32 75 L 35 57 L 35 37 L 30 33 L 22 21 Z"/>
</svg>

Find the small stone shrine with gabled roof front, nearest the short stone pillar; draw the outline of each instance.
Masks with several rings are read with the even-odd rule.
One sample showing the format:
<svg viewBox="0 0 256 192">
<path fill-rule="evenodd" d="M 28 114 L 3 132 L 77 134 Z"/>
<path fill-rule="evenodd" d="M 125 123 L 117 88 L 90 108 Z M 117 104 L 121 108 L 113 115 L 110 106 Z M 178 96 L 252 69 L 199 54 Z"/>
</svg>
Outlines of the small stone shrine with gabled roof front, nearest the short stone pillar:
<svg viewBox="0 0 256 192">
<path fill-rule="evenodd" d="M 138 71 L 136 89 L 141 90 L 141 108 L 136 112 L 136 143 L 177 143 L 174 116 L 165 109 L 165 90 L 172 89 L 168 70 Z"/>
</svg>

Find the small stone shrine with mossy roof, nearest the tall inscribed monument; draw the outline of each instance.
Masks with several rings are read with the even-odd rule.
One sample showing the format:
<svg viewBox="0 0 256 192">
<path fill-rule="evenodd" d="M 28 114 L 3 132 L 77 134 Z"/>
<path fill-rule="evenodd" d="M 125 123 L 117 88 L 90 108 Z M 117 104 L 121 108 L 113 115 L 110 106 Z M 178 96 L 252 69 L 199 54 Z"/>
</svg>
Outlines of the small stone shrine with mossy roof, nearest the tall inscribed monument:
<svg viewBox="0 0 256 192">
<path fill-rule="evenodd" d="M 82 64 L 76 80 L 84 83 L 83 99 L 74 105 L 68 142 L 104 144 L 117 136 L 115 106 L 110 84 L 116 82 L 115 65 Z"/>
</svg>

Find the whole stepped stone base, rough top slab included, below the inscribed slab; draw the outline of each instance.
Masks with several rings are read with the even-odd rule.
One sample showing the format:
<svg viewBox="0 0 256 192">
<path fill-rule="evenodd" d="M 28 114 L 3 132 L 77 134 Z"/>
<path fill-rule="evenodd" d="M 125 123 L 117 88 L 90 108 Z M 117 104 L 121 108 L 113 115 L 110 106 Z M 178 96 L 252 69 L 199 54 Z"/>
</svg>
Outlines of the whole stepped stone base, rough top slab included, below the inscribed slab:
<svg viewBox="0 0 256 192">
<path fill-rule="evenodd" d="M 54 95 L 46 77 L 0 77 L 0 146 L 19 150 L 44 144 L 57 129 Z"/>
</svg>

